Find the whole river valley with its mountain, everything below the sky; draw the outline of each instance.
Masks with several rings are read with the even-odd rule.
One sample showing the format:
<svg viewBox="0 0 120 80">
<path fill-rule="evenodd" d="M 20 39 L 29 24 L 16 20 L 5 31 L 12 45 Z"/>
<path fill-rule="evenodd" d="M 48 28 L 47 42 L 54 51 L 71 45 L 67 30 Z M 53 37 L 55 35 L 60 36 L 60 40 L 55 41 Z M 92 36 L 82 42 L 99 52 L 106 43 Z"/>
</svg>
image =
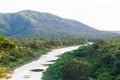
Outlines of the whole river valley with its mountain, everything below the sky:
<svg viewBox="0 0 120 80">
<path fill-rule="evenodd" d="M 0 13 L 0 80 L 120 80 L 119 33 L 51 13 Z"/>
</svg>

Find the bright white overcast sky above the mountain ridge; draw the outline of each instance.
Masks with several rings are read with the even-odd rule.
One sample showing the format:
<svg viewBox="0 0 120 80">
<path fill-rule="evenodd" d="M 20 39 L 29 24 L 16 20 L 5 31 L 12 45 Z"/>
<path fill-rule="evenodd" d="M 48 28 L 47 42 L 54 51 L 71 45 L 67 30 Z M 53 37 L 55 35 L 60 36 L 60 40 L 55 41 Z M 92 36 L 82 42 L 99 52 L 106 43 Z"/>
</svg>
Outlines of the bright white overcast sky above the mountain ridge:
<svg viewBox="0 0 120 80">
<path fill-rule="evenodd" d="M 52 13 L 99 30 L 120 31 L 120 0 L 0 0 L 0 13 L 20 10 Z"/>
</svg>

